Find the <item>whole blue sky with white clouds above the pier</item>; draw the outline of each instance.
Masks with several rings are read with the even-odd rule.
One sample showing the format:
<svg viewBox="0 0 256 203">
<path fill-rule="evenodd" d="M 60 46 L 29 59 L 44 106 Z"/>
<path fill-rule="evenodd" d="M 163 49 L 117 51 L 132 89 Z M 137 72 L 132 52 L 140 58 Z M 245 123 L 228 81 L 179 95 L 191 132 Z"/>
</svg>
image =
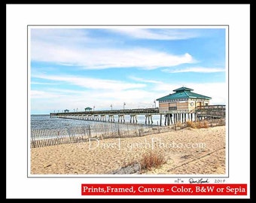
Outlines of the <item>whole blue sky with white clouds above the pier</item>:
<svg viewBox="0 0 256 203">
<path fill-rule="evenodd" d="M 226 32 L 220 26 L 31 26 L 31 114 L 122 109 L 124 102 L 152 108 L 181 86 L 225 105 Z"/>
</svg>

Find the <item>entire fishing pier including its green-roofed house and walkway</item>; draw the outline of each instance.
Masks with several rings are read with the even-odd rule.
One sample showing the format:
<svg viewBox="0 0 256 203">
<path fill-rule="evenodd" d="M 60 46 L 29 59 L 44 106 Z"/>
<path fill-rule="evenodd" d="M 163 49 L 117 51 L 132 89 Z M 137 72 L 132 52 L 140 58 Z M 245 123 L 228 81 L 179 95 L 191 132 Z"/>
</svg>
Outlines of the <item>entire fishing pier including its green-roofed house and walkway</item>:
<svg viewBox="0 0 256 203">
<path fill-rule="evenodd" d="M 153 124 L 152 117 L 154 115 L 160 115 L 160 122 L 157 122 L 157 126 L 170 126 L 175 123 L 185 123 L 187 120 L 197 121 L 226 117 L 225 105 L 209 105 L 211 97 L 197 94 L 193 90 L 184 86 L 174 89 L 174 93 L 157 98 L 159 108 L 92 111 L 93 109 L 88 107 L 79 112 L 66 110 L 62 113 L 50 113 L 50 117 L 111 123 L 138 123 L 137 117 L 145 115 L 145 125 L 148 125 Z M 130 120 L 125 120 L 125 116 L 129 116 Z"/>
</svg>

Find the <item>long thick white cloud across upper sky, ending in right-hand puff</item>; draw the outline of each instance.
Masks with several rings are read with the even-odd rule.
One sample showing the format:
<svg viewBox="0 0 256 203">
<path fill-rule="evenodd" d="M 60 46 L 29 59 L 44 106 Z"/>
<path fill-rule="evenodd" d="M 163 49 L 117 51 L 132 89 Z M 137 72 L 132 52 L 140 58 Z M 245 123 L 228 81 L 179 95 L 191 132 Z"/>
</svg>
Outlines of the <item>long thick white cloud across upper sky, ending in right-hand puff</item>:
<svg viewBox="0 0 256 203">
<path fill-rule="evenodd" d="M 129 67 L 155 69 L 194 62 L 193 57 L 189 53 L 172 55 L 144 48 L 133 48 L 129 50 L 117 48 L 75 48 L 38 41 L 35 41 L 32 45 L 32 60 L 56 62 L 66 65 L 80 65 L 86 69 Z"/>
</svg>

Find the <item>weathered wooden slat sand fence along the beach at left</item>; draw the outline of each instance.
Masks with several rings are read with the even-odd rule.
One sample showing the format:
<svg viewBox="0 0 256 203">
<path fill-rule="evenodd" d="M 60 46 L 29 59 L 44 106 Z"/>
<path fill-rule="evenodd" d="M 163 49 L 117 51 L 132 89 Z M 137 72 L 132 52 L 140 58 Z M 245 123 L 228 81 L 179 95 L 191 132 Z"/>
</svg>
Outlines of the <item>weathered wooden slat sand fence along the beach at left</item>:
<svg viewBox="0 0 256 203">
<path fill-rule="evenodd" d="M 30 147 L 47 147 L 57 144 L 72 144 L 106 138 L 132 138 L 149 135 L 156 128 L 151 126 L 96 123 L 66 129 L 32 129 Z"/>
</svg>

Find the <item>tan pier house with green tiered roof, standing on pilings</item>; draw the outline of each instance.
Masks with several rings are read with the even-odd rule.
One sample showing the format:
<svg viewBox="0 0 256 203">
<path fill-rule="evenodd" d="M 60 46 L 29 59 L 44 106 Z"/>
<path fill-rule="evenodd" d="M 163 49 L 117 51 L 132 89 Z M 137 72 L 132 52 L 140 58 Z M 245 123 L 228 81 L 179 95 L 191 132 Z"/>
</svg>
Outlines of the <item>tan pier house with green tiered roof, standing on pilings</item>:
<svg viewBox="0 0 256 203">
<path fill-rule="evenodd" d="M 157 98 L 159 113 L 166 117 L 165 125 L 181 123 L 186 120 L 197 120 L 197 107 L 209 105 L 211 97 L 197 94 L 194 89 L 180 87 L 173 90 L 175 93 Z M 173 120 L 172 120 L 173 117 Z"/>
</svg>

